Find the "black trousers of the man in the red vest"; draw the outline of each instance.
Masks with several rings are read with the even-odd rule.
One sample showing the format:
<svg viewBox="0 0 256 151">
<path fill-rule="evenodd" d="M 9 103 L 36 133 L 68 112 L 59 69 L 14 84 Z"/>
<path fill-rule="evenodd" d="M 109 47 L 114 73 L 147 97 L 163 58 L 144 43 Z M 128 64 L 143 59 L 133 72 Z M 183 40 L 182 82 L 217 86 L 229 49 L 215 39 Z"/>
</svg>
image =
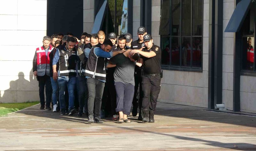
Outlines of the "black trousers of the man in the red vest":
<svg viewBox="0 0 256 151">
<path fill-rule="evenodd" d="M 45 96 L 46 96 L 46 106 L 50 107 L 51 98 L 52 98 L 52 84 L 51 78 L 48 75 L 44 76 L 37 76 L 38 79 L 38 86 L 39 86 L 39 97 L 40 97 L 40 104 L 44 105 L 44 87 L 45 87 Z"/>
</svg>

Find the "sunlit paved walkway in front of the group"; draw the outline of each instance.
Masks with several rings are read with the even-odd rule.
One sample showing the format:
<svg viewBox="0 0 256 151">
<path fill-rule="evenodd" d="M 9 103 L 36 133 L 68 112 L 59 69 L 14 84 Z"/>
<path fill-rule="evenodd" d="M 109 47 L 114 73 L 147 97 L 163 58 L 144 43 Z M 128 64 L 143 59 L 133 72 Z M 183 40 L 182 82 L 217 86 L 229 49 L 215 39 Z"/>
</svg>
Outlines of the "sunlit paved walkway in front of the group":
<svg viewBox="0 0 256 151">
<path fill-rule="evenodd" d="M 99 124 L 39 107 L 0 117 L 0 150 L 256 151 L 254 116 L 159 102 L 155 123 Z"/>
</svg>

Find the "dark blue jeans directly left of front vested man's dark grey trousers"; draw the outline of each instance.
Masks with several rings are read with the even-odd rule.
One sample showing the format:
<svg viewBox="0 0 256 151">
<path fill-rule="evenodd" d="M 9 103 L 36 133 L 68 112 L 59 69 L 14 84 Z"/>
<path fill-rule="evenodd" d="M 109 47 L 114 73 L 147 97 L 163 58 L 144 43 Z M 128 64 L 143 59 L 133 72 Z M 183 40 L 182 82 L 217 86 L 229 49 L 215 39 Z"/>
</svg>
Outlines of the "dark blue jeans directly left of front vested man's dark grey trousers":
<svg viewBox="0 0 256 151">
<path fill-rule="evenodd" d="M 83 112 L 84 107 L 85 111 L 88 112 L 88 88 L 87 88 L 87 79 L 83 75 L 78 76 L 79 82 L 79 111 Z"/>
</svg>

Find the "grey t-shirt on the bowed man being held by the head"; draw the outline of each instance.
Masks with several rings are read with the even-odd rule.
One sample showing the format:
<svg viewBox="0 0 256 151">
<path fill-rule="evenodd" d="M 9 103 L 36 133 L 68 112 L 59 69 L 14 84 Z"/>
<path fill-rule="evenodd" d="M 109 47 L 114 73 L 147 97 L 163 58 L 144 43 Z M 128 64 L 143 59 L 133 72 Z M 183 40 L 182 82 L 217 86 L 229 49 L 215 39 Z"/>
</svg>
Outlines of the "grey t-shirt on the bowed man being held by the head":
<svg viewBox="0 0 256 151">
<path fill-rule="evenodd" d="M 135 85 L 134 68 L 136 65 L 136 61 L 131 61 L 128 57 L 121 53 L 110 58 L 109 62 L 117 65 L 114 72 L 115 82 L 122 82 L 124 84 L 130 83 L 133 86 Z"/>
</svg>

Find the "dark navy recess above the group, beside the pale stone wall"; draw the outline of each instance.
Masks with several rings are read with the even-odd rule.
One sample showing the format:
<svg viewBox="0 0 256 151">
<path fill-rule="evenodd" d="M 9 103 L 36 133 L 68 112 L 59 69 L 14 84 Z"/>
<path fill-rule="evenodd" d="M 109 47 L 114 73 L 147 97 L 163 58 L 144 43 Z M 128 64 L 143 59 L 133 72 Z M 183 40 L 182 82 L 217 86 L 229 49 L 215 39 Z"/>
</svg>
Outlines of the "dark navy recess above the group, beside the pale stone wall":
<svg viewBox="0 0 256 151">
<path fill-rule="evenodd" d="M 83 0 L 47 0 L 47 36 L 83 33 Z"/>
</svg>

